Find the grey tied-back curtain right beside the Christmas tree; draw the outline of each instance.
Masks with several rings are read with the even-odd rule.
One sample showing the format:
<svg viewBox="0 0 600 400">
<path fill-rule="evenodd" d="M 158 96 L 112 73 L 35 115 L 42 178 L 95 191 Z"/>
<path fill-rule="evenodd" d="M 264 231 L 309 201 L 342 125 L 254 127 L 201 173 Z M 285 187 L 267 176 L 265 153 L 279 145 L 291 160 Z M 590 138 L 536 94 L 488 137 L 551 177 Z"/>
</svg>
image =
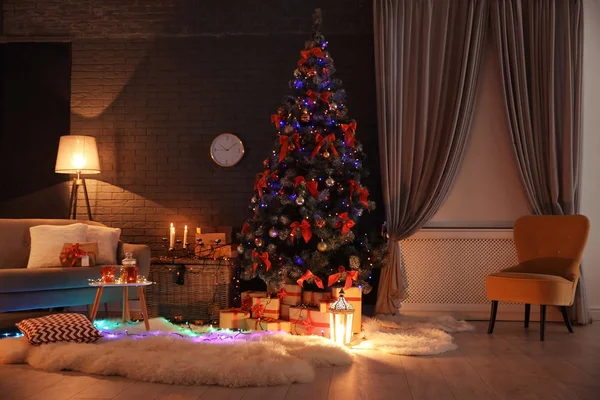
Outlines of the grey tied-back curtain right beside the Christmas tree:
<svg viewBox="0 0 600 400">
<path fill-rule="evenodd" d="M 406 297 L 399 241 L 437 212 L 467 142 L 488 0 L 374 0 L 383 202 L 390 235 L 376 312 Z"/>
</svg>

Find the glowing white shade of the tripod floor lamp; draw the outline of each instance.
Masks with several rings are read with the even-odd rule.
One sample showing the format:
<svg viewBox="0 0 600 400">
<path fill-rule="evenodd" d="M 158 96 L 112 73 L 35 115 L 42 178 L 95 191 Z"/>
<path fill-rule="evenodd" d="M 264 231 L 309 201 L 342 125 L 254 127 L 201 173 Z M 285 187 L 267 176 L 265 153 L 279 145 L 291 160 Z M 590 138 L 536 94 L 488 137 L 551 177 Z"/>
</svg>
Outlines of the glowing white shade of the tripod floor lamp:
<svg viewBox="0 0 600 400">
<path fill-rule="evenodd" d="M 99 174 L 100 159 L 96 138 L 67 135 L 60 137 L 54 172 L 58 174 Z"/>
</svg>

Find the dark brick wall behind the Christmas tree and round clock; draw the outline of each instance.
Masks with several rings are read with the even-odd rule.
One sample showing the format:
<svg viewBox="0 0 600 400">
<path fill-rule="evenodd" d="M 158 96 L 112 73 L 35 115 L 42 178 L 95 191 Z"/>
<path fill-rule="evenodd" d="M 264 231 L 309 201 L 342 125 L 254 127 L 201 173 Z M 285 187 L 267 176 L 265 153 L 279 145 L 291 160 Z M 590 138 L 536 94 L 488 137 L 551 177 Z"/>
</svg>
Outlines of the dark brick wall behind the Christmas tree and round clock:
<svg viewBox="0 0 600 400">
<path fill-rule="evenodd" d="M 180 232 L 241 226 L 316 6 L 378 200 L 369 0 L 4 0 L 3 27 L 7 37 L 72 40 L 71 133 L 95 136 L 101 156 L 88 180 L 94 219 L 158 248 L 169 222 Z M 246 147 L 233 168 L 210 159 L 221 132 Z M 367 218 L 379 224 L 381 212 Z"/>
</svg>

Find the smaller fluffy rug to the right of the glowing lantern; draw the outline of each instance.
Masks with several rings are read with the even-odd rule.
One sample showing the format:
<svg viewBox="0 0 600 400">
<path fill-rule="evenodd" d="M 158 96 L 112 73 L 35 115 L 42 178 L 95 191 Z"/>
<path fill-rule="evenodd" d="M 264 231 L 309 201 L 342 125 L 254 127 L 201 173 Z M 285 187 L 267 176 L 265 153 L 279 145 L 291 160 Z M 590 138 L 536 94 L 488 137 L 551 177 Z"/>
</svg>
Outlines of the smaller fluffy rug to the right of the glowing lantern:
<svg viewBox="0 0 600 400">
<path fill-rule="evenodd" d="M 440 354 L 456 349 L 448 332 L 474 329 L 473 325 L 450 316 L 428 319 L 407 316 L 363 318 L 363 341 L 354 348 L 405 356 Z"/>
</svg>

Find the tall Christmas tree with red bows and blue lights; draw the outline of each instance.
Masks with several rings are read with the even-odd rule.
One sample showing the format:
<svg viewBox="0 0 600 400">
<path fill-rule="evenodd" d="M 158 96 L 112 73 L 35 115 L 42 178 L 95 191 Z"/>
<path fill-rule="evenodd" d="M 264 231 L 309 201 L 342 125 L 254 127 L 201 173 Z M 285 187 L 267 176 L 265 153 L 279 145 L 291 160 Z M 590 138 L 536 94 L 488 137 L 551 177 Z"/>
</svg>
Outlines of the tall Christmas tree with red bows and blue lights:
<svg viewBox="0 0 600 400">
<path fill-rule="evenodd" d="M 368 293 L 384 254 L 356 233 L 363 213 L 375 208 L 361 184 L 365 154 L 342 82 L 333 78 L 320 10 L 313 20 L 290 81 L 294 94 L 271 116 L 277 136 L 239 234 L 240 275 L 274 288 L 290 280 L 320 289 L 351 281 Z"/>
</svg>

